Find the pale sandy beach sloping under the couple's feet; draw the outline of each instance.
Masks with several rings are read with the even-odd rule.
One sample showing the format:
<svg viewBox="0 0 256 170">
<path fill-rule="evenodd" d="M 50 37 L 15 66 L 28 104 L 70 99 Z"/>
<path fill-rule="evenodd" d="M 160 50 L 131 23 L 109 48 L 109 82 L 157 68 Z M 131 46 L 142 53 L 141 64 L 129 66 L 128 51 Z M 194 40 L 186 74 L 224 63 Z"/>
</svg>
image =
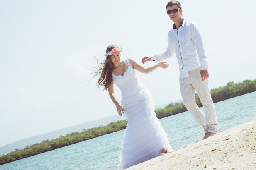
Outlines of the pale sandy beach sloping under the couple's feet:
<svg viewBox="0 0 256 170">
<path fill-rule="evenodd" d="M 256 170 L 256 120 L 163 154 L 129 170 Z"/>
</svg>

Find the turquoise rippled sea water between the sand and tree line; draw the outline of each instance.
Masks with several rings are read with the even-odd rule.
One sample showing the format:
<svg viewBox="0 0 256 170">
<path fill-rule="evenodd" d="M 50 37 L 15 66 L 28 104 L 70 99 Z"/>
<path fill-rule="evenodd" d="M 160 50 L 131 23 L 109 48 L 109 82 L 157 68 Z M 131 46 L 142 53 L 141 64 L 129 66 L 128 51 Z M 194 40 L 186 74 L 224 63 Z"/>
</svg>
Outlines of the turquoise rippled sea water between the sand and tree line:
<svg viewBox="0 0 256 170">
<path fill-rule="evenodd" d="M 256 92 L 215 103 L 219 132 L 256 119 Z M 204 112 L 204 109 L 201 108 Z M 189 112 L 159 120 L 174 150 L 195 143 L 204 132 Z M 117 169 L 124 130 L 0 165 L 0 170 Z"/>
</svg>

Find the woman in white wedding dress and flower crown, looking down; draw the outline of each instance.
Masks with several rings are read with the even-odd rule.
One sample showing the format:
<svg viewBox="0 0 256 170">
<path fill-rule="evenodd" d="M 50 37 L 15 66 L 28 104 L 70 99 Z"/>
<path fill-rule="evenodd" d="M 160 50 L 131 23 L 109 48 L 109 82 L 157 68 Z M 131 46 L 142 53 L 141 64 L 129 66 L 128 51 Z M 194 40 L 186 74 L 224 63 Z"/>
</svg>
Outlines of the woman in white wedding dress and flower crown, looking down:
<svg viewBox="0 0 256 170">
<path fill-rule="evenodd" d="M 152 67 L 144 68 L 132 59 L 120 60 L 121 47 L 109 45 L 105 61 L 98 63 L 99 76 L 97 85 L 107 90 L 117 112 L 127 117 L 124 141 L 119 155 L 118 169 L 154 158 L 161 153 L 172 151 L 167 134 L 161 126 L 150 93 L 135 77 L 136 69 L 142 73 L 150 73 L 158 67 L 167 68 L 166 62 L 159 62 Z M 114 94 L 114 83 L 122 92 L 121 105 Z"/>
</svg>

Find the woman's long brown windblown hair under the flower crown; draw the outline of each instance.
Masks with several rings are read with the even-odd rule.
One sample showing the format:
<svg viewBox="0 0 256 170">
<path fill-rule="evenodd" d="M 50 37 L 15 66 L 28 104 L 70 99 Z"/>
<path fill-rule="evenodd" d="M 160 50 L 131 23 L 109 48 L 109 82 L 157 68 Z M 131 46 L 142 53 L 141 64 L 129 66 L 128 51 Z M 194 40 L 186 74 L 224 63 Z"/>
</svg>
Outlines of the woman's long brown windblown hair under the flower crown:
<svg viewBox="0 0 256 170">
<path fill-rule="evenodd" d="M 106 53 L 109 51 L 112 51 L 113 48 L 118 48 L 117 45 L 109 45 L 107 47 Z M 97 71 L 95 72 L 95 76 L 99 76 L 99 79 L 97 81 L 97 86 L 100 88 L 101 86 L 104 87 L 103 90 L 107 90 L 107 88 L 111 85 L 113 75 L 113 63 L 111 61 L 111 55 L 107 55 L 104 62 L 99 62 L 97 59 Z"/>
</svg>

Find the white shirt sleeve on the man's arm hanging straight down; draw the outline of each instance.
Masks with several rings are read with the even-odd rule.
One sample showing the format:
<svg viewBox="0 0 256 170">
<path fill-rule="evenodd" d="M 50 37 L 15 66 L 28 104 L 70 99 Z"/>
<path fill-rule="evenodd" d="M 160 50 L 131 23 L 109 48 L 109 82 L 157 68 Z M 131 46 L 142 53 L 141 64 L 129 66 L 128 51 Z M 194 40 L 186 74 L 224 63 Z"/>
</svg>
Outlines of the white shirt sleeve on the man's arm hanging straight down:
<svg viewBox="0 0 256 170">
<path fill-rule="evenodd" d="M 200 69 L 208 69 L 209 60 L 207 59 L 205 45 L 202 40 L 202 34 L 195 23 L 191 25 L 191 34 L 192 41 L 195 44 L 195 48 L 197 49 L 197 54 L 200 62 Z"/>
</svg>

